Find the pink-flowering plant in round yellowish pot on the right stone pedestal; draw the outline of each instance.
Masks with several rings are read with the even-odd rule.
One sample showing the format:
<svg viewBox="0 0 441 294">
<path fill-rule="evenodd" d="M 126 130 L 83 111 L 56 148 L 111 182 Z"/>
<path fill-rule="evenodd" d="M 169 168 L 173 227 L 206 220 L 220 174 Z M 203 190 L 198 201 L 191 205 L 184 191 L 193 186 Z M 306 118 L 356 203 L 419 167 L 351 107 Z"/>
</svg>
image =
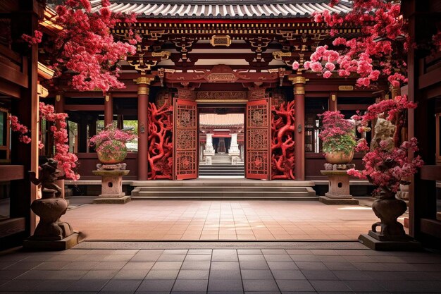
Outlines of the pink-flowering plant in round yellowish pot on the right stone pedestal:
<svg viewBox="0 0 441 294">
<path fill-rule="evenodd" d="M 322 131 L 318 136 L 323 142 L 326 161 L 330 164 L 349 164 L 356 146 L 354 123 L 344 119 L 340 111 L 325 111 L 319 116 Z"/>
</svg>

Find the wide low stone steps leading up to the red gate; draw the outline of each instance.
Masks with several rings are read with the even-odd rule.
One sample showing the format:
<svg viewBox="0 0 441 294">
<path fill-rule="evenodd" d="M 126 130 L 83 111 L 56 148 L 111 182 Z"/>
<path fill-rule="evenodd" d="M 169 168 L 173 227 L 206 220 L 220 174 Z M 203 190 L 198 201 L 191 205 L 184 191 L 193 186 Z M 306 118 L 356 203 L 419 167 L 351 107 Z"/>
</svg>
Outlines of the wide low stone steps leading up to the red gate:
<svg viewBox="0 0 441 294">
<path fill-rule="evenodd" d="M 311 181 L 198 179 L 138 181 L 132 200 L 317 201 Z"/>
</svg>

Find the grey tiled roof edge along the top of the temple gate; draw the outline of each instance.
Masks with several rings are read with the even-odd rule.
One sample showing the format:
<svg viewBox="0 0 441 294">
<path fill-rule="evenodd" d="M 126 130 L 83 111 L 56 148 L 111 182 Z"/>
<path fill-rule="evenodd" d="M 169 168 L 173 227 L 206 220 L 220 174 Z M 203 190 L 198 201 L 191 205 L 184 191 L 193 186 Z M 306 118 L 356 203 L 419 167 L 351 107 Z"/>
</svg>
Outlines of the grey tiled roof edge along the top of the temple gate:
<svg viewBox="0 0 441 294">
<path fill-rule="evenodd" d="M 92 7 L 101 8 L 101 0 L 90 0 Z M 111 0 L 111 10 L 137 13 L 146 18 L 302 18 L 313 12 L 346 13 L 350 4 L 340 1 L 334 7 L 326 0 Z"/>
</svg>

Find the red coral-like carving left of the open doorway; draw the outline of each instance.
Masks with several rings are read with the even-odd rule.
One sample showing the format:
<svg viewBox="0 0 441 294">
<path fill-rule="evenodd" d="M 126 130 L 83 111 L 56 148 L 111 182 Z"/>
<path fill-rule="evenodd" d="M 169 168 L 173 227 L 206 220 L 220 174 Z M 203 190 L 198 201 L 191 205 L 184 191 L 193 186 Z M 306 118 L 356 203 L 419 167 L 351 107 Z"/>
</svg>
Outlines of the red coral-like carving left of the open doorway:
<svg viewBox="0 0 441 294">
<path fill-rule="evenodd" d="M 149 103 L 149 180 L 173 179 L 173 106 Z"/>
</svg>

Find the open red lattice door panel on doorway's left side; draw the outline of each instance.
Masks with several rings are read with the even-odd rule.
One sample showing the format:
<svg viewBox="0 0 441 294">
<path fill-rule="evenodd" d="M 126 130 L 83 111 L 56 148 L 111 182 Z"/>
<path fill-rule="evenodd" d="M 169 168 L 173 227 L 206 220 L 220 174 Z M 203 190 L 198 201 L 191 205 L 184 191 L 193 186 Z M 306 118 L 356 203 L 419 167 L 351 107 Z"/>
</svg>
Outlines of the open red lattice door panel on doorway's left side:
<svg viewBox="0 0 441 294">
<path fill-rule="evenodd" d="M 197 178 L 197 104 L 175 98 L 173 104 L 174 179 Z"/>
</svg>

